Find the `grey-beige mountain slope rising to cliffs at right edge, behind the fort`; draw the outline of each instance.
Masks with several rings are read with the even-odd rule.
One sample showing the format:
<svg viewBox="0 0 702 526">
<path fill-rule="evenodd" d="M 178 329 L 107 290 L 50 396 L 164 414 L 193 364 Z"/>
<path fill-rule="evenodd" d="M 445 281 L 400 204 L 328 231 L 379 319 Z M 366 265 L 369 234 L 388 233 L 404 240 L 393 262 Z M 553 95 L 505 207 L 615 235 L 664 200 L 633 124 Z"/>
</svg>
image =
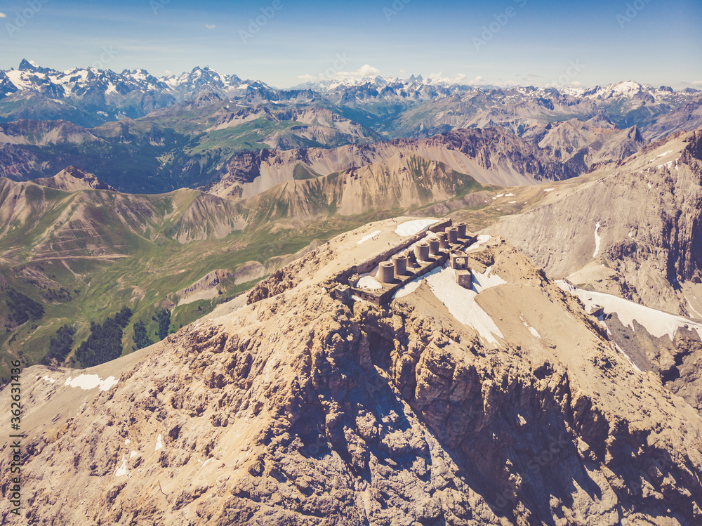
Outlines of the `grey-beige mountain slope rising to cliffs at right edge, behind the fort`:
<svg viewBox="0 0 702 526">
<path fill-rule="evenodd" d="M 690 302 L 702 283 L 701 137 L 680 133 L 553 187 L 541 204 L 489 230 L 551 275 L 601 267 L 597 280 L 583 283 L 605 292 L 614 283 L 626 298 L 694 317 Z"/>
</svg>

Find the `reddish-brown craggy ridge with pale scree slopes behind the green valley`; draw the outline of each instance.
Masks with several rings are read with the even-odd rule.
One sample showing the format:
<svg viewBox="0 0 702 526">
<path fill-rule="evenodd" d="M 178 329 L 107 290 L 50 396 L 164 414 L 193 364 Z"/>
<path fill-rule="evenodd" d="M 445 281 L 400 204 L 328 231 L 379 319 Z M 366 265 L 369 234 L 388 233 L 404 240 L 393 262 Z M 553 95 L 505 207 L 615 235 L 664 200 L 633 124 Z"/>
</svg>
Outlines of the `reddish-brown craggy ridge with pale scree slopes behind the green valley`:
<svg viewBox="0 0 702 526">
<path fill-rule="evenodd" d="M 230 159 L 227 176 L 207 191 L 221 197 L 251 197 L 293 180 L 300 166 L 305 173 L 329 176 L 409 154 L 444 163 L 486 184 L 529 184 L 536 180 L 562 180 L 579 173 L 505 129 L 463 129 L 425 139 L 370 145 L 242 152 Z"/>
</svg>

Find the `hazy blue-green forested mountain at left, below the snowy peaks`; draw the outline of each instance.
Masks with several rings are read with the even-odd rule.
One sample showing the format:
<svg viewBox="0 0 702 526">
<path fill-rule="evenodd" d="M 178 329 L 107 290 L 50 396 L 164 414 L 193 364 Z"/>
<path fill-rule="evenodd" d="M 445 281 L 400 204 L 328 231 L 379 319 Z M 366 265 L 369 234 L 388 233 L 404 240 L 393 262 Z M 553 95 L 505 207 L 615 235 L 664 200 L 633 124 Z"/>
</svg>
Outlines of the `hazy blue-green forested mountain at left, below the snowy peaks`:
<svg viewBox="0 0 702 526">
<path fill-rule="evenodd" d="M 0 124 L 0 175 L 46 178 L 73 165 L 121 191 L 157 193 L 218 178 L 242 150 L 377 140 L 377 133 L 326 108 L 243 106 L 211 94 L 93 129 L 67 121 Z"/>
</svg>

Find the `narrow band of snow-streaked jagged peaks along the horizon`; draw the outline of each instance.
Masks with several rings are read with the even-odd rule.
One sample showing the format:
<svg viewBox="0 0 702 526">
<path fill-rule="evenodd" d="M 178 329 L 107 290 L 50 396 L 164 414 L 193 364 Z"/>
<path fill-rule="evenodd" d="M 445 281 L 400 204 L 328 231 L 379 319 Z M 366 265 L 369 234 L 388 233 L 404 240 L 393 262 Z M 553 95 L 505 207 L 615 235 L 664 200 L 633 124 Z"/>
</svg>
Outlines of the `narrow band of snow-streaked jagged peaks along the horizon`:
<svg viewBox="0 0 702 526">
<path fill-rule="evenodd" d="M 178 76 L 154 77 L 146 70 L 100 70 L 94 67 L 57 71 L 41 67 L 31 60 L 22 60 L 17 70 L 0 70 L 0 100 L 10 96 L 37 94 L 52 100 L 76 99 L 91 103 L 121 105 L 125 98 L 152 98 L 154 107 L 164 107 L 190 100 L 204 91 L 220 96 L 237 98 L 251 93 L 267 93 L 276 100 L 277 93 L 262 81 L 242 80 L 237 75 L 226 75 L 209 67 L 195 67 Z M 674 91 L 666 86 L 654 87 L 634 81 L 595 86 L 595 88 L 535 88 L 515 86 L 496 88 L 457 84 L 445 79 L 412 75 L 407 79 L 388 77 L 344 78 L 319 80 L 299 84 L 291 91 L 312 91 L 329 98 L 334 103 L 351 103 L 355 100 L 381 99 L 426 101 L 455 95 L 488 92 L 503 99 L 505 104 L 519 100 L 538 100 L 545 97 L 586 100 L 641 100 L 654 104 L 680 105 L 700 93 L 687 88 Z M 134 102 L 134 101 L 132 101 Z M 150 105 L 147 105 L 150 106 Z M 145 108 L 148 109 L 148 108 Z"/>
</svg>

